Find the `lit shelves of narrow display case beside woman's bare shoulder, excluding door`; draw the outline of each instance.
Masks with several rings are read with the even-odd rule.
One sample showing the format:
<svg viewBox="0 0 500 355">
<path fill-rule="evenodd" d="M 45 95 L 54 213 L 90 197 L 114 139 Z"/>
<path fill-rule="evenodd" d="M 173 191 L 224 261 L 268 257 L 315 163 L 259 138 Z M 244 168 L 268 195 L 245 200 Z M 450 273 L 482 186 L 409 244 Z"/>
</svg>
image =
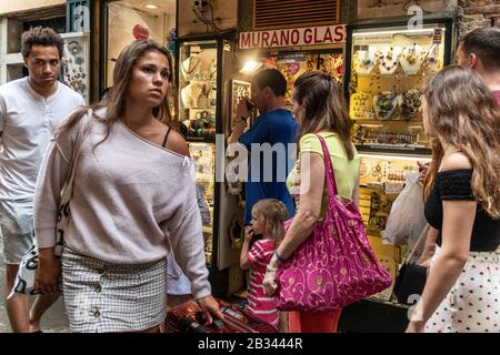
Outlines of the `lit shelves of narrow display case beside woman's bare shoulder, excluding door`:
<svg viewBox="0 0 500 355">
<path fill-rule="evenodd" d="M 188 128 L 198 192 L 209 205 L 210 223 L 203 225 L 207 263 L 212 263 L 214 229 L 214 169 L 217 129 L 218 41 L 182 42 L 179 48 L 179 121 Z"/>
</svg>

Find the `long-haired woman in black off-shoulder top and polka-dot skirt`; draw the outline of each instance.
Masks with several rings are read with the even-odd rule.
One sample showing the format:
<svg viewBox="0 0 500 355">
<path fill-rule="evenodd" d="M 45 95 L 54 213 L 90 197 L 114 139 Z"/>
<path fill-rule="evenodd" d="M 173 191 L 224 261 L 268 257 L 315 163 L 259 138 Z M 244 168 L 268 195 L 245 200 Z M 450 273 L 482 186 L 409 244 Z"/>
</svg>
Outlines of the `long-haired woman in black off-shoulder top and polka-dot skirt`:
<svg viewBox="0 0 500 355">
<path fill-rule="evenodd" d="M 473 70 L 428 84 L 423 125 L 437 141 L 426 217 L 438 248 L 407 332 L 500 332 L 500 109 Z"/>
</svg>

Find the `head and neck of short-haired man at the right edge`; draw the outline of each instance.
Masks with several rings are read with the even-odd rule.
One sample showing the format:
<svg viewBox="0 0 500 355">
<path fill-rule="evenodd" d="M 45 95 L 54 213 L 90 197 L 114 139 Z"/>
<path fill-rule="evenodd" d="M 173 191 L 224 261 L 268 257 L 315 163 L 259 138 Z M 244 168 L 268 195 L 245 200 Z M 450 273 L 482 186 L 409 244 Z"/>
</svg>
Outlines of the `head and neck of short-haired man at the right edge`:
<svg viewBox="0 0 500 355">
<path fill-rule="evenodd" d="M 500 104 L 500 29 L 480 28 L 467 33 L 457 49 L 457 63 L 474 69 Z"/>
</svg>

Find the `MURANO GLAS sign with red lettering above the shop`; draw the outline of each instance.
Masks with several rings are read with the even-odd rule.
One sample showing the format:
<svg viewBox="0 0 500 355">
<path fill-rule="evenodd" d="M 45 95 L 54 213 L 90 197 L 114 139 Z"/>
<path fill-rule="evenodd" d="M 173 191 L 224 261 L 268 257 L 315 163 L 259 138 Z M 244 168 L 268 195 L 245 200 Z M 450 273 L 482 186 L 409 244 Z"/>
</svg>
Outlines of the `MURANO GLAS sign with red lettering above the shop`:
<svg viewBox="0 0 500 355">
<path fill-rule="evenodd" d="M 240 33 L 240 49 L 293 45 L 341 44 L 346 42 L 346 26 L 307 27 Z"/>
</svg>

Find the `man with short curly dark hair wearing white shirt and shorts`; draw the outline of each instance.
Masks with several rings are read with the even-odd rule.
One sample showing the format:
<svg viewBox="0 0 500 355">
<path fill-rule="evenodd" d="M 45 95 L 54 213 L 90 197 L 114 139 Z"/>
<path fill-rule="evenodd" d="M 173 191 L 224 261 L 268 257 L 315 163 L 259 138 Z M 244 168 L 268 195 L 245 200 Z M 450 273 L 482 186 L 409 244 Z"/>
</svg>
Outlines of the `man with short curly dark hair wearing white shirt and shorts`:
<svg viewBox="0 0 500 355">
<path fill-rule="evenodd" d="M 6 258 L 4 297 L 12 290 L 22 256 L 33 243 L 33 196 L 40 164 L 59 123 L 83 98 L 58 82 L 63 42 L 49 28 L 22 36 L 29 77 L 0 87 L 0 226 Z M 26 295 L 6 307 L 13 332 L 40 331 L 40 318 L 57 296 L 39 295 L 31 310 Z"/>
</svg>

